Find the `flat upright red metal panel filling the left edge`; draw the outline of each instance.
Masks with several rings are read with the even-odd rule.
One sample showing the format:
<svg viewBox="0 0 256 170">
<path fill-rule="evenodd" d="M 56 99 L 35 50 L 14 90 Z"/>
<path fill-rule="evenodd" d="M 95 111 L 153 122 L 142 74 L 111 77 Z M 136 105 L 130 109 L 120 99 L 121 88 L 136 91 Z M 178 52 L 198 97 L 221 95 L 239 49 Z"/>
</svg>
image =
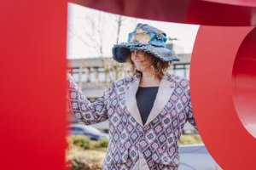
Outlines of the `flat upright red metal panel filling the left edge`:
<svg viewBox="0 0 256 170">
<path fill-rule="evenodd" d="M 0 169 L 65 169 L 67 1 L 0 1 Z"/>
</svg>

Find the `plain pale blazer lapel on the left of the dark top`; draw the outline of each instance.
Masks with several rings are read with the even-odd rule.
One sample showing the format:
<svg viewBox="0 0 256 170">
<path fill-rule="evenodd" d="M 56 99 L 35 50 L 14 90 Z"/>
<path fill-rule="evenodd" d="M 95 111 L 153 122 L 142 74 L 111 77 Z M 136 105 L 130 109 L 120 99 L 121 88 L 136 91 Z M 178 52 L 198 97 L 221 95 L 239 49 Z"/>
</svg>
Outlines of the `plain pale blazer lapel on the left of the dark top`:
<svg viewBox="0 0 256 170">
<path fill-rule="evenodd" d="M 136 93 L 140 83 L 140 77 L 133 77 L 134 81 L 126 84 L 125 87 L 125 104 L 131 116 L 143 127 L 143 120 L 137 108 Z"/>
</svg>

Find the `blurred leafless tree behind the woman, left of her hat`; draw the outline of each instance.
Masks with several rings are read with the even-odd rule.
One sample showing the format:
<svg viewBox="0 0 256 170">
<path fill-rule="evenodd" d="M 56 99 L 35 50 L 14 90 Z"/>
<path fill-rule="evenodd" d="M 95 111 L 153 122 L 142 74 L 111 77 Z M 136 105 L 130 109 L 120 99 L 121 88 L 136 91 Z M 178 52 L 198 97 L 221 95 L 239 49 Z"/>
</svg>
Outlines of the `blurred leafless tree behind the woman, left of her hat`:
<svg viewBox="0 0 256 170">
<path fill-rule="evenodd" d="M 105 83 L 107 88 L 109 88 L 109 82 L 120 79 L 124 72 L 124 64 L 119 64 L 117 61 L 106 59 L 103 52 L 104 40 L 103 37 L 106 33 L 114 34 L 116 31 L 116 44 L 119 43 L 119 35 L 122 26 L 124 26 L 126 17 L 121 15 L 114 14 L 103 14 L 103 12 L 86 12 L 78 16 L 79 22 L 81 22 L 82 31 L 77 31 L 73 26 L 68 25 L 69 33 L 79 38 L 81 42 L 84 43 L 84 46 L 90 48 L 89 53 L 98 54 L 99 59 L 102 61 L 102 65 L 105 70 Z M 111 31 L 106 30 L 105 26 L 108 24 L 108 21 L 113 20 L 113 29 Z M 134 19 L 130 26 L 136 24 L 136 19 Z M 114 37 L 114 35 L 113 35 Z"/>
</svg>

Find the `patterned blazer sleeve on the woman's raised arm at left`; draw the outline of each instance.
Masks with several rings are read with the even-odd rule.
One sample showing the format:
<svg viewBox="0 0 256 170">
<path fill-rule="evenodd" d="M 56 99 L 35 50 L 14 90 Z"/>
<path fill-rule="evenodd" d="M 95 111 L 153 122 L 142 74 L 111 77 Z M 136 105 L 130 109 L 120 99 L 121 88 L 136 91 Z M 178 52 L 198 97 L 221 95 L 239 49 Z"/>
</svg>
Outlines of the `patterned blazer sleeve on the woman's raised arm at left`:
<svg viewBox="0 0 256 170">
<path fill-rule="evenodd" d="M 67 105 L 70 111 L 86 125 L 104 122 L 108 119 L 109 98 L 114 90 L 114 83 L 111 88 L 105 90 L 102 97 L 91 103 L 86 99 L 79 86 L 73 81 L 73 78 L 67 76 Z"/>
</svg>

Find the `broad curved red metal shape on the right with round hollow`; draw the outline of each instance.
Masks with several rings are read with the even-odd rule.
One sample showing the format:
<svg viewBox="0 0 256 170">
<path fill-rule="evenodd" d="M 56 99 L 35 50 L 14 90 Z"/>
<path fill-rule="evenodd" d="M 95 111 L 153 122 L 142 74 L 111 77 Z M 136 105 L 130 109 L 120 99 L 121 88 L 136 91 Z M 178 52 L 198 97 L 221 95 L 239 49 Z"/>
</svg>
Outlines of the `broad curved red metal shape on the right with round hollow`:
<svg viewBox="0 0 256 170">
<path fill-rule="evenodd" d="M 201 26 L 192 53 L 195 120 L 207 150 L 224 170 L 256 169 L 253 28 Z"/>
</svg>

